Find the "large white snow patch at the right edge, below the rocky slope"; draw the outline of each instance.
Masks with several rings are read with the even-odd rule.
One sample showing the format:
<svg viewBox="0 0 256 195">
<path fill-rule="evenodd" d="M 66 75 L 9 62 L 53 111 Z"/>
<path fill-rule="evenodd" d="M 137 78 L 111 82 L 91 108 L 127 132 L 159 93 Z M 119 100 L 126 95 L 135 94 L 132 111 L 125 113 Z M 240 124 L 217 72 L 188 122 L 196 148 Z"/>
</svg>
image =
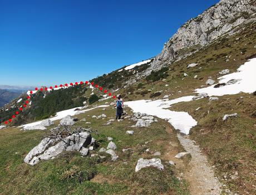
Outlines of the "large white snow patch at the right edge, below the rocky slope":
<svg viewBox="0 0 256 195">
<path fill-rule="evenodd" d="M 207 93 L 209 96 L 232 95 L 239 93 L 253 93 L 256 90 L 256 58 L 253 58 L 241 65 L 236 73 L 221 76 L 219 83 L 226 85 L 214 88 L 196 89 L 196 93 Z"/>
</svg>

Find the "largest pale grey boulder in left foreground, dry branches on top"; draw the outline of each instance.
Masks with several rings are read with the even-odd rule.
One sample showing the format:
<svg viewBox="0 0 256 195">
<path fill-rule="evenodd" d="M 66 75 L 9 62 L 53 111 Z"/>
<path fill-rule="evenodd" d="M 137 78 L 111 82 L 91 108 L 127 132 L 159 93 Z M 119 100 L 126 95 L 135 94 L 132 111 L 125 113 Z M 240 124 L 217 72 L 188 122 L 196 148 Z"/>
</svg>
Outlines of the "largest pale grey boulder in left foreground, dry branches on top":
<svg viewBox="0 0 256 195">
<path fill-rule="evenodd" d="M 56 141 L 56 140 L 55 140 Z M 55 158 L 63 151 L 80 151 L 82 155 L 87 155 L 86 146 L 91 143 L 91 135 L 88 132 L 80 132 L 63 138 L 56 145 L 51 146 L 53 140 L 44 138 L 39 145 L 34 147 L 24 158 L 24 162 L 29 165 L 36 165 L 41 160 L 49 160 Z"/>
</svg>

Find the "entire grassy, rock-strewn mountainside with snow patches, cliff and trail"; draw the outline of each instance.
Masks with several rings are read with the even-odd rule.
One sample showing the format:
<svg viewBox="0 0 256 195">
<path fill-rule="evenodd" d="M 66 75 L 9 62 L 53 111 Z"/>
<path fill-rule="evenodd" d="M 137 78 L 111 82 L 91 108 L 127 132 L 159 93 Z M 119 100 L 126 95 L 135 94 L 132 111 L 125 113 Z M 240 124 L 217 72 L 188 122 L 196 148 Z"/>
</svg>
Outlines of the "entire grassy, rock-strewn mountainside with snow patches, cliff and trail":
<svg viewBox="0 0 256 195">
<path fill-rule="evenodd" d="M 0 194 L 255 194 L 255 24 L 253 1 L 222 0 L 155 58 L 34 91 L 0 125 Z"/>
</svg>

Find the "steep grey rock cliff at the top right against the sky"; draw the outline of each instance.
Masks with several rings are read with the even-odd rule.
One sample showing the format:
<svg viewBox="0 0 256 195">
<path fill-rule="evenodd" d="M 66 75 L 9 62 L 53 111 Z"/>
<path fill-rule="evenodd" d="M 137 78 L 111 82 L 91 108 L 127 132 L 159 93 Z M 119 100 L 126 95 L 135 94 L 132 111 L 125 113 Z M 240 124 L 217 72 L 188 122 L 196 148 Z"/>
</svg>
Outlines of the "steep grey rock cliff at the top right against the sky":
<svg viewBox="0 0 256 195">
<path fill-rule="evenodd" d="M 221 0 L 198 17 L 182 25 L 165 43 L 162 52 L 152 61 L 146 74 L 170 61 L 181 59 L 213 42 L 234 27 L 254 18 L 254 0 Z"/>
</svg>

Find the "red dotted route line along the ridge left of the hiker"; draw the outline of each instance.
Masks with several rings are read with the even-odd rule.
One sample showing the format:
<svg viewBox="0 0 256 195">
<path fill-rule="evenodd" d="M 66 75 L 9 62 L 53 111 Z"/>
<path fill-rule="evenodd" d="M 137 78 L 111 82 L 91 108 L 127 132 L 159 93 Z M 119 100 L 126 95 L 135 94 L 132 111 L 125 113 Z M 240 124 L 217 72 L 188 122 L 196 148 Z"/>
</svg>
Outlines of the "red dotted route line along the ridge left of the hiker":
<svg viewBox="0 0 256 195">
<path fill-rule="evenodd" d="M 104 90 L 101 86 L 99 86 L 99 85 L 97 85 L 97 84 L 94 84 L 93 82 L 88 82 L 88 81 L 85 81 L 85 82 L 83 82 L 83 81 L 80 81 L 80 83 L 77 83 L 77 82 L 75 82 L 75 84 L 73 84 L 73 83 L 70 83 L 70 86 L 73 86 L 73 85 L 82 85 L 82 84 L 86 84 L 86 85 L 91 85 L 91 86 L 94 86 L 96 89 L 99 89 L 100 91 L 103 91 L 103 93 L 104 94 L 107 94 L 107 90 Z M 36 91 L 36 93 L 37 93 L 37 91 L 43 91 L 43 90 L 45 90 L 45 91 L 47 91 L 48 89 L 54 89 L 54 88 L 64 88 L 65 86 L 68 86 L 68 84 L 66 83 L 66 84 L 64 84 L 64 85 L 62 85 L 62 84 L 60 84 L 59 86 L 58 85 L 55 85 L 54 87 L 53 86 L 50 86 L 49 88 L 35 88 L 35 91 Z M 31 98 L 31 95 L 32 94 L 35 94 L 35 93 L 33 93 L 33 91 L 31 90 L 30 92 L 29 92 L 29 94 L 30 95 L 28 95 L 27 96 L 27 99 L 26 99 L 26 101 L 24 102 L 24 104 L 21 106 L 21 107 L 19 107 L 19 109 L 18 109 L 18 111 L 16 111 L 16 112 L 14 112 L 14 114 L 10 117 L 10 119 L 8 119 L 7 121 L 4 121 L 4 124 L 6 124 L 6 125 L 8 125 L 9 123 L 11 123 L 12 122 L 12 119 L 14 119 L 17 115 L 19 115 L 19 114 L 21 114 L 22 113 L 22 111 L 23 111 L 23 108 L 25 108 L 25 107 L 27 107 L 27 105 L 29 104 L 29 100 L 30 100 L 30 98 Z M 108 93 L 107 94 L 108 96 L 112 96 L 112 98 L 116 98 L 116 96 L 115 95 L 112 95 L 112 93 Z"/>
</svg>

